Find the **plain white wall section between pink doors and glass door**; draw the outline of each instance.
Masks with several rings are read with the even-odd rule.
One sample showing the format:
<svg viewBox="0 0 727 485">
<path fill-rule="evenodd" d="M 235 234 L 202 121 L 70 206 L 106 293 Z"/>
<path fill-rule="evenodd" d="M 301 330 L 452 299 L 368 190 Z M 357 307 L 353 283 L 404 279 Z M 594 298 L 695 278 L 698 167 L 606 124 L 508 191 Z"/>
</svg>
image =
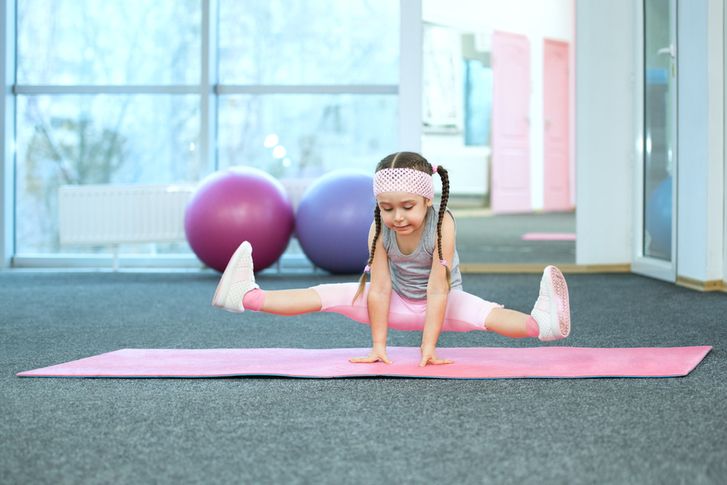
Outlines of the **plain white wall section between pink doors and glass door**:
<svg viewBox="0 0 727 485">
<path fill-rule="evenodd" d="M 632 0 L 576 4 L 577 264 L 632 257 L 634 13 Z"/>
</svg>

